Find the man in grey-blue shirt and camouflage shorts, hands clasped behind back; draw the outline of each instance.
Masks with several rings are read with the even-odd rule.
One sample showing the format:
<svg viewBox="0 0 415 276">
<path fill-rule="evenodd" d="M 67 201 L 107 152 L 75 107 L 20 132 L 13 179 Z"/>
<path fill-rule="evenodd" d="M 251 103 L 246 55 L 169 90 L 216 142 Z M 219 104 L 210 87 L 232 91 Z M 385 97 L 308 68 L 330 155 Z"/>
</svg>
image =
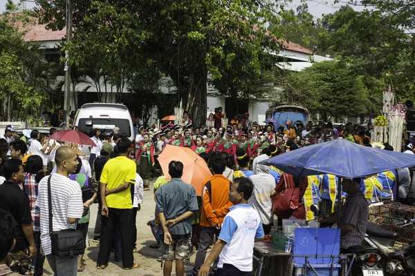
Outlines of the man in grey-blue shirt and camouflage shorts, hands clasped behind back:
<svg viewBox="0 0 415 276">
<path fill-rule="evenodd" d="M 160 186 L 156 192 L 156 212 L 160 217 L 160 250 L 165 260 L 163 275 L 172 274 L 173 261 L 176 259 L 176 275 L 183 276 L 183 260 L 190 255 L 192 215 L 199 210 L 199 206 L 194 187 L 181 180 L 183 164 L 180 161 L 170 162 L 169 175 L 172 180 Z"/>
</svg>

